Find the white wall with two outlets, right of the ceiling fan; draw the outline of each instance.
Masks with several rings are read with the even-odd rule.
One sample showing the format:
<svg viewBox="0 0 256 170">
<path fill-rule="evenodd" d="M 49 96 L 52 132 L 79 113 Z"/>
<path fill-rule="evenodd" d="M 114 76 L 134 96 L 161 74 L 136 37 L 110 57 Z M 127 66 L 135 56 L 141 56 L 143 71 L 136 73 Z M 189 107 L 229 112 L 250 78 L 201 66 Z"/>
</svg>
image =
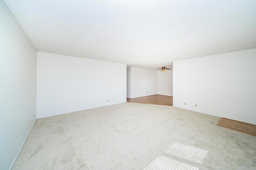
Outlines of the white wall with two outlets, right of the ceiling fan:
<svg viewBox="0 0 256 170">
<path fill-rule="evenodd" d="M 256 49 L 174 62 L 173 106 L 256 124 L 255 104 Z"/>
</svg>

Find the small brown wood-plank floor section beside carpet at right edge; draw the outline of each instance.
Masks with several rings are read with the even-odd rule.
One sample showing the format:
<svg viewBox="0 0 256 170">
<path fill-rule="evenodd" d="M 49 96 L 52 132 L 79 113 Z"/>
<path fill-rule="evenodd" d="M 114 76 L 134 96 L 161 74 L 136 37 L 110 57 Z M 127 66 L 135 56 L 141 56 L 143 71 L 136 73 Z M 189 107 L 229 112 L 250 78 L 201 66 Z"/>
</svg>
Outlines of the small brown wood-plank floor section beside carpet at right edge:
<svg viewBox="0 0 256 170">
<path fill-rule="evenodd" d="M 221 118 L 217 126 L 225 127 L 234 131 L 246 133 L 248 135 L 256 136 L 256 125 L 245 123 L 242 121 L 236 121 L 227 118 Z"/>
</svg>

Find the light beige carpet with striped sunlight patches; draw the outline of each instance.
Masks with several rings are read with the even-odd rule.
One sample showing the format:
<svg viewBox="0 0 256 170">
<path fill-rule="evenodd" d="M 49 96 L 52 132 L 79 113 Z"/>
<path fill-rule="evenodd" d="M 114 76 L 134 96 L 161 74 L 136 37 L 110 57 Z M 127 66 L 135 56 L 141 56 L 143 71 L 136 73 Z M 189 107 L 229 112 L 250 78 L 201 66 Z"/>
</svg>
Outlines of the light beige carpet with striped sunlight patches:
<svg viewBox="0 0 256 170">
<path fill-rule="evenodd" d="M 256 137 L 220 117 L 124 103 L 38 119 L 14 170 L 241 169 L 256 166 Z"/>
</svg>

